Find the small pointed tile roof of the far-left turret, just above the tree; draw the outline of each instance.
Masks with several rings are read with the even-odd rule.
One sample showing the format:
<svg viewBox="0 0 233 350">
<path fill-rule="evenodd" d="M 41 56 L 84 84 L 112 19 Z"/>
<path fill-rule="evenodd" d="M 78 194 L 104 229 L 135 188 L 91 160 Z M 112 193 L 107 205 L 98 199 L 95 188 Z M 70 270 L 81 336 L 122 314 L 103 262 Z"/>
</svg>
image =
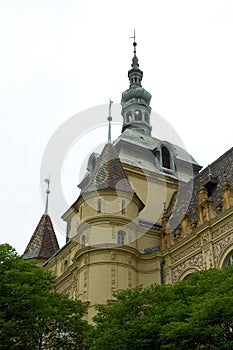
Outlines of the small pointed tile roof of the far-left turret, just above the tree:
<svg viewBox="0 0 233 350">
<path fill-rule="evenodd" d="M 48 214 L 42 215 L 23 254 L 24 259 L 48 259 L 59 250 L 57 237 Z"/>
</svg>

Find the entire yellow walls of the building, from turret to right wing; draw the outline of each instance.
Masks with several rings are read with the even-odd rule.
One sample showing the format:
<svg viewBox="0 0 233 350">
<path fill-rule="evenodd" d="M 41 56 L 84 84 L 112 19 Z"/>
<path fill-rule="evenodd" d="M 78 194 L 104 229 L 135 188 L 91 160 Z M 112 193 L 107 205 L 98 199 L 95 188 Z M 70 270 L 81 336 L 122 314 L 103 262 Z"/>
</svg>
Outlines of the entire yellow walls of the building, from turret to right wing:
<svg viewBox="0 0 233 350">
<path fill-rule="evenodd" d="M 57 277 L 56 290 L 88 303 L 88 320 L 95 305 L 111 303 L 114 292 L 137 285 L 175 283 L 191 273 L 222 268 L 233 252 L 233 191 L 225 182 L 221 210 L 213 205 L 207 190 L 196 193 L 198 220 L 195 225 L 183 216 L 179 232 L 169 228 L 164 215 L 178 188 L 178 181 L 123 164 L 137 196 L 103 191 L 88 194 L 69 210 L 70 241 L 53 256 L 45 268 Z M 102 210 L 97 213 L 101 198 Z M 128 204 L 124 213 L 122 200 Z M 80 207 L 83 207 L 80 218 Z M 140 208 L 139 208 L 140 207 Z M 139 225 L 139 219 L 145 225 Z M 162 229 L 149 224 L 159 222 Z M 125 231 L 123 245 L 117 243 Z M 85 242 L 82 236 L 85 235 Z M 82 244 L 83 243 L 83 244 Z"/>
</svg>

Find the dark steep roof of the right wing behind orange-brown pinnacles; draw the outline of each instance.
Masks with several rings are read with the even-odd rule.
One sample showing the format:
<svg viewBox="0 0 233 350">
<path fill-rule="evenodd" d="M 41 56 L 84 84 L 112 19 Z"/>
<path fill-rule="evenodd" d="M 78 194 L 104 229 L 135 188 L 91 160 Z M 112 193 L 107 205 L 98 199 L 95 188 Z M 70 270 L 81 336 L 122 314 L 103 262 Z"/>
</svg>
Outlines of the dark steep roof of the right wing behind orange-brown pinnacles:
<svg viewBox="0 0 233 350">
<path fill-rule="evenodd" d="M 203 169 L 191 181 L 184 185 L 178 195 L 172 198 L 168 207 L 168 214 L 172 214 L 170 224 L 178 227 L 185 213 L 191 220 L 198 219 L 198 201 L 201 181 L 209 191 L 209 199 L 214 203 L 214 208 L 223 204 L 222 186 L 224 176 L 233 188 L 233 148 L 224 153 L 208 167 Z"/>
</svg>

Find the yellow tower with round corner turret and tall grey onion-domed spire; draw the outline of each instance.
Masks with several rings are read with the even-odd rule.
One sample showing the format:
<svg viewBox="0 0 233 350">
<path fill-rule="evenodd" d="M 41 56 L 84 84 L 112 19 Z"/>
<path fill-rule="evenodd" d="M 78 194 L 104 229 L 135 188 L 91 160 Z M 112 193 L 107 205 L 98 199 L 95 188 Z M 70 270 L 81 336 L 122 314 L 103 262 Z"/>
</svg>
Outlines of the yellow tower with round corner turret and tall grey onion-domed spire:
<svg viewBox="0 0 233 350">
<path fill-rule="evenodd" d="M 89 305 L 111 303 L 120 289 L 161 283 L 161 220 L 190 169 L 200 168 L 185 151 L 151 135 L 151 94 L 141 85 L 134 36 L 129 89 L 122 93 L 122 133 L 93 153 L 77 200 L 63 214 L 66 245 L 44 264 L 56 290 Z M 192 173 L 192 171 L 191 171 Z"/>
</svg>

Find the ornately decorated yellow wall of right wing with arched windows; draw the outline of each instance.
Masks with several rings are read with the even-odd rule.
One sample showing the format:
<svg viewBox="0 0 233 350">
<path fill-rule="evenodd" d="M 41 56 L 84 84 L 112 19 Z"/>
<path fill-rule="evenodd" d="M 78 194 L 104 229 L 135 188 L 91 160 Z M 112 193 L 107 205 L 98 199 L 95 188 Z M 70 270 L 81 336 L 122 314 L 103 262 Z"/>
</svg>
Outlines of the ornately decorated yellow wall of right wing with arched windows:
<svg viewBox="0 0 233 350">
<path fill-rule="evenodd" d="M 233 253 L 233 207 L 197 227 L 163 252 L 165 282 L 175 283 L 197 270 L 223 268 Z"/>
</svg>

